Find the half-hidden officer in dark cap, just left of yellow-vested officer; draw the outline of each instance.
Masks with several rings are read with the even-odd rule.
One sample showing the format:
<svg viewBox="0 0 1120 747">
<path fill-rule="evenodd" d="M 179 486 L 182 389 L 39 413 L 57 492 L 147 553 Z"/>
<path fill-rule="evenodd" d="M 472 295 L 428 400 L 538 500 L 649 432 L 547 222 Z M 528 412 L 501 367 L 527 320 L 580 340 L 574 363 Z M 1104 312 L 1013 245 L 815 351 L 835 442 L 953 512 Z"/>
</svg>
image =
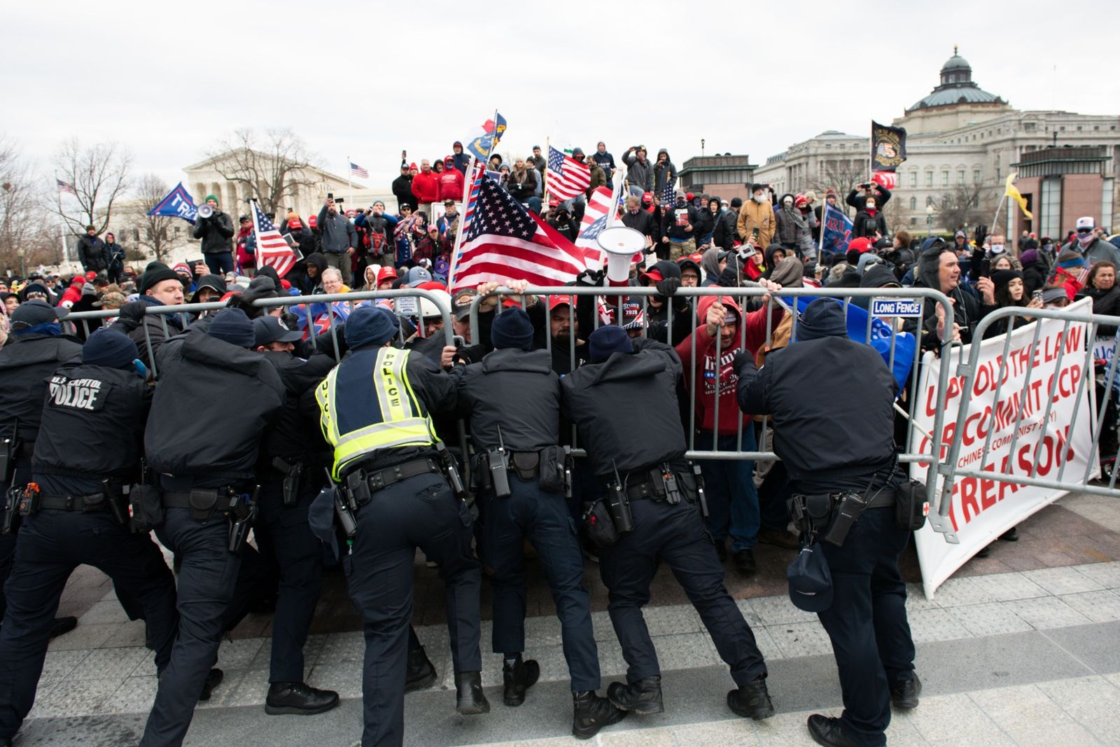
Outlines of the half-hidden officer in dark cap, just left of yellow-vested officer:
<svg viewBox="0 0 1120 747">
<path fill-rule="evenodd" d="M 261 553 L 279 567 L 280 587 L 272 618 L 272 657 L 264 711 L 312 715 L 338 704 L 338 693 L 304 682 L 304 644 L 323 590 L 323 552 L 307 523 L 307 510 L 319 494 L 330 451 L 316 432 L 315 386 L 334 367 L 333 357 L 293 354 L 302 337 L 278 317 L 253 320 L 254 344 L 280 374 L 284 407 L 261 445 L 258 467 L 260 501 L 253 530 Z"/>
</svg>

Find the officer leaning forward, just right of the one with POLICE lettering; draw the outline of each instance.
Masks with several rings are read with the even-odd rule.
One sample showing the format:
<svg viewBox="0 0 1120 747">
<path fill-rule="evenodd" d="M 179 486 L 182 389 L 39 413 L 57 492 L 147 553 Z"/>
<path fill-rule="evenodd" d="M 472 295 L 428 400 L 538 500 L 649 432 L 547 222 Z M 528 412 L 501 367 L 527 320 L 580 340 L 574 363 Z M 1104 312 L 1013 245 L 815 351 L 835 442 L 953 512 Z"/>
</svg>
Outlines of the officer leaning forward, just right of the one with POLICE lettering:
<svg viewBox="0 0 1120 747">
<path fill-rule="evenodd" d="M 183 744 L 221 635 L 248 611 L 259 582 L 261 561 L 244 535 L 261 439 L 280 415 L 284 387 L 276 367 L 250 349 L 255 342 L 245 312 L 224 309 L 206 332 L 178 336 L 159 352 L 144 451 L 165 514 L 156 534 L 183 566 L 179 634 L 140 741 L 146 747 Z"/>
</svg>

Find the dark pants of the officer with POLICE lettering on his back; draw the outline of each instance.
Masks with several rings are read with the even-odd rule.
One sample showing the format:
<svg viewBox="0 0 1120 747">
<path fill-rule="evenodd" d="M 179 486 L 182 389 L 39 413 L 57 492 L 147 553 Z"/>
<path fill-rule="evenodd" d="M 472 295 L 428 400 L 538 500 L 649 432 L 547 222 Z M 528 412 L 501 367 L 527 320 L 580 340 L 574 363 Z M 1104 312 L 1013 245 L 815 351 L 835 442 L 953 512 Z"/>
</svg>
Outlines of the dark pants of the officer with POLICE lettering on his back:
<svg viewBox="0 0 1120 747">
<path fill-rule="evenodd" d="M 109 513 L 45 510 L 24 519 L 4 585 L 8 609 L 0 625 L 0 738 L 12 737 L 31 710 L 66 580 L 93 566 L 137 599 L 167 666 L 176 633 L 175 579 L 147 534 L 132 534 Z"/>
</svg>

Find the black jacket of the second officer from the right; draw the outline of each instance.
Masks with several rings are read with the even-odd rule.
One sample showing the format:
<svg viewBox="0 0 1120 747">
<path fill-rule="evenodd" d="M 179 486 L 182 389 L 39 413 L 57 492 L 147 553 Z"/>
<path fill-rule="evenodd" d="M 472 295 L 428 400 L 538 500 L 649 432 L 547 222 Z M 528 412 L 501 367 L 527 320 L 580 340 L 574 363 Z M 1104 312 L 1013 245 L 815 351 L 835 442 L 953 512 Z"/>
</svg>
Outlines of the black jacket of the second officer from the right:
<svg viewBox="0 0 1120 747">
<path fill-rule="evenodd" d="M 675 459 L 688 448 L 676 407 L 676 351 L 652 339 L 636 339 L 634 348 L 560 380 L 563 414 L 599 477 Z"/>
</svg>

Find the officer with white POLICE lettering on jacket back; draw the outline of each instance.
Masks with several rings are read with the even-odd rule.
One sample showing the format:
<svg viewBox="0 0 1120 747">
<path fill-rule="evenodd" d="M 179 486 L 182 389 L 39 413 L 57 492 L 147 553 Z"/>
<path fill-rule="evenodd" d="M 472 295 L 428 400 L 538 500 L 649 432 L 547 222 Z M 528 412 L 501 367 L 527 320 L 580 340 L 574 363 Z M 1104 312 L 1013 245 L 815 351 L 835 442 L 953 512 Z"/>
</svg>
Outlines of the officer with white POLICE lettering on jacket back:
<svg viewBox="0 0 1120 747">
<path fill-rule="evenodd" d="M 20 345 L 21 346 L 21 345 Z M 31 347 L 28 345 L 28 347 Z M 0 627 L 0 744 L 9 745 L 31 710 L 55 610 L 69 575 L 94 566 L 140 604 L 156 669 L 171 655 L 175 580 L 147 533 L 132 533 L 122 487 L 136 480 L 151 390 L 137 374 L 137 346 L 99 329 L 81 362 L 49 375 L 35 443 L 24 527 L 8 579 Z"/>
</svg>

